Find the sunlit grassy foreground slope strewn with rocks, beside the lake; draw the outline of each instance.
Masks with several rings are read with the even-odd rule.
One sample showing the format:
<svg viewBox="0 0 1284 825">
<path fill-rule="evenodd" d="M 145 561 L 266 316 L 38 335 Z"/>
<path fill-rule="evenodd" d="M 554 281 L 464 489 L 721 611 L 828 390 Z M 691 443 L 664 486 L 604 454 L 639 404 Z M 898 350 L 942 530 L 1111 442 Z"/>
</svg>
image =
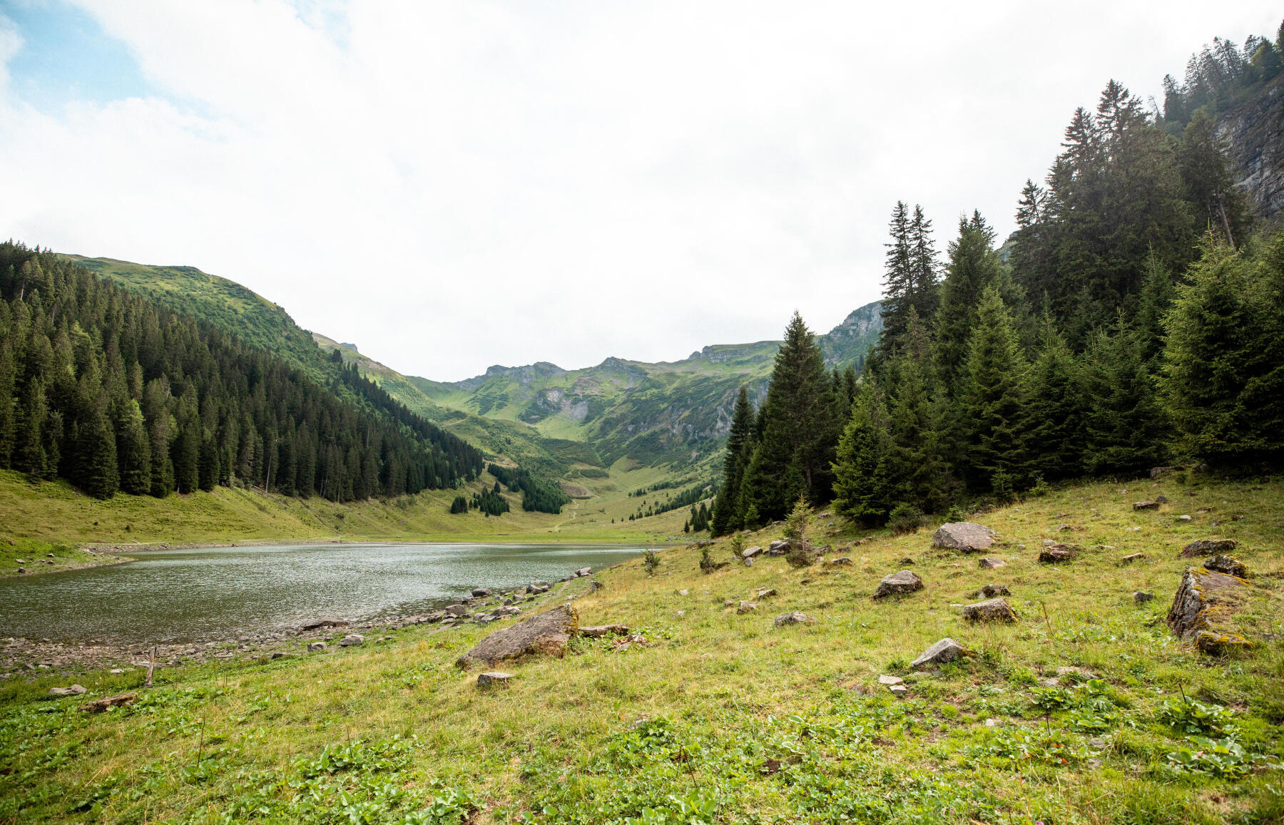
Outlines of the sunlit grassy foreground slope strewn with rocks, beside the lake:
<svg viewBox="0 0 1284 825">
<path fill-rule="evenodd" d="M 1165 494 L 1158 511 L 1134 511 Z M 977 556 L 931 531 L 705 575 L 700 550 L 597 571 L 566 654 L 455 659 L 501 625 L 369 633 L 358 647 L 121 674 L 37 670 L 0 688 L 0 816 L 58 822 L 1278 822 L 1284 816 L 1279 482 L 1093 484 L 973 513 Z M 1189 521 L 1180 520 L 1189 515 Z M 813 520 L 815 541 L 864 538 Z M 1216 522 L 1216 525 L 1215 525 Z M 827 535 L 827 532 L 837 532 Z M 1249 568 L 1229 621 L 1252 649 L 1194 652 L 1165 615 L 1199 538 Z M 752 543 L 776 538 L 772 531 Z M 1079 554 L 1036 561 L 1045 540 Z M 731 561 L 727 541 L 711 549 Z M 1124 562 L 1141 553 L 1143 558 Z M 873 600 L 908 568 L 924 588 Z M 1013 624 L 960 606 L 1005 585 Z M 767 594 L 767 590 L 774 593 Z M 1134 591 L 1154 594 L 1136 603 Z M 755 608 L 741 608 L 741 602 Z M 814 624 L 774 626 L 799 611 Z M 910 662 L 949 636 L 969 654 Z M 336 636 L 338 638 L 338 636 Z M 880 684 L 895 676 L 901 697 Z M 51 698 L 78 683 L 82 697 Z M 107 713 L 77 708 L 136 692 Z"/>
</svg>

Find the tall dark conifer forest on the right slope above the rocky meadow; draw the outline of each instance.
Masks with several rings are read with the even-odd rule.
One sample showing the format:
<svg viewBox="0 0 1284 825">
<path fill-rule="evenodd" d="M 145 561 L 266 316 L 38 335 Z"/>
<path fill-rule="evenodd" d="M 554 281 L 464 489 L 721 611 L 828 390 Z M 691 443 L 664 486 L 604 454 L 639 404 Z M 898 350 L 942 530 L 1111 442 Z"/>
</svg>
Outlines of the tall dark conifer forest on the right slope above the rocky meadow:
<svg viewBox="0 0 1284 825">
<path fill-rule="evenodd" d="M 1215 128 L 1278 82 L 1281 45 L 1215 41 L 1166 80 L 1163 113 L 1111 81 L 1002 248 L 973 212 L 942 262 L 898 203 L 864 373 L 828 373 L 795 314 L 765 400 L 736 404 L 713 532 L 800 497 L 913 525 L 1068 479 L 1284 463 L 1284 231 L 1256 218 Z"/>
</svg>

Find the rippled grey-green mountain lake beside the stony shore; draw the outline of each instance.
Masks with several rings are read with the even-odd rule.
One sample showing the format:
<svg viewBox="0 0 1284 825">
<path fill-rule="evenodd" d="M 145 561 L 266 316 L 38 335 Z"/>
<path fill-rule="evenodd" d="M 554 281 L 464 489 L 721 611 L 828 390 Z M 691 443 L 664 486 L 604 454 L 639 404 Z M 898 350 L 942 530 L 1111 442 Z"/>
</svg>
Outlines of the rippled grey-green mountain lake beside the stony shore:
<svg viewBox="0 0 1284 825">
<path fill-rule="evenodd" d="M 449 604 L 473 588 L 556 581 L 638 547 L 565 544 L 307 544 L 140 553 L 128 565 L 0 580 L 0 635 L 100 642 L 205 642 L 369 621 Z"/>
</svg>

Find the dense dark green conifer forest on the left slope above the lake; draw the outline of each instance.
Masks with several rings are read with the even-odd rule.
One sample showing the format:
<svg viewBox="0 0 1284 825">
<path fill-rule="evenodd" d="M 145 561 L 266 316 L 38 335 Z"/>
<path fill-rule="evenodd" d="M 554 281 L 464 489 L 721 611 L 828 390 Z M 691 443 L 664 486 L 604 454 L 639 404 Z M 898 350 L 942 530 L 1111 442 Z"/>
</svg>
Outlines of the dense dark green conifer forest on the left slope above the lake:
<svg viewBox="0 0 1284 825">
<path fill-rule="evenodd" d="M 0 244 L 0 468 L 98 498 L 253 485 L 334 502 L 482 472 L 356 367 L 331 359 L 322 386 L 48 250 Z"/>
</svg>

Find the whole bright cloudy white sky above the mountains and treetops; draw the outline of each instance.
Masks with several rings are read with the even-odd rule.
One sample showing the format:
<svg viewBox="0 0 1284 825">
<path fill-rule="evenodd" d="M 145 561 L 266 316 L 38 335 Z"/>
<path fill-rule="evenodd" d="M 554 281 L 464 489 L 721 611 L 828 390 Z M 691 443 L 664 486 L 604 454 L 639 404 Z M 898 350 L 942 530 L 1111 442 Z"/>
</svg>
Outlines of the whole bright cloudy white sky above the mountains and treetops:
<svg viewBox="0 0 1284 825">
<path fill-rule="evenodd" d="M 408 375 L 827 331 L 1000 239 L 1079 105 L 1278 3 L 0 0 L 0 237 L 189 264 Z"/>
</svg>

